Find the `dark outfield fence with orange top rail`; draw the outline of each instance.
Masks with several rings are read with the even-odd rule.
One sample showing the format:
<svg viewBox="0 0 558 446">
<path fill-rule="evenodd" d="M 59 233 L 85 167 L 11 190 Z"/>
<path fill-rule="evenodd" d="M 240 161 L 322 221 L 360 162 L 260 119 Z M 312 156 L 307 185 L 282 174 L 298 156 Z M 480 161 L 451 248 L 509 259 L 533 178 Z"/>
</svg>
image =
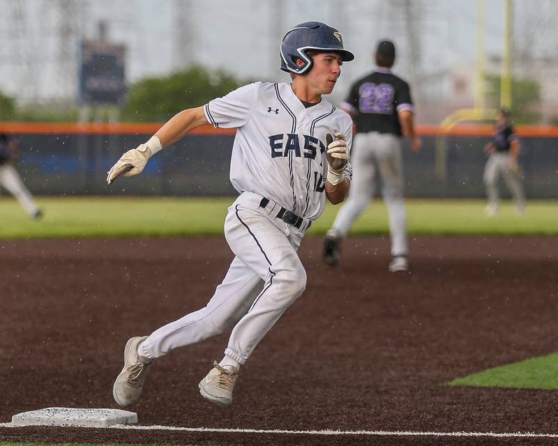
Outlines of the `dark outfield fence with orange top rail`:
<svg viewBox="0 0 558 446">
<path fill-rule="evenodd" d="M 107 187 L 107 170 L 123 151 L 149 139 L 160 124 L 0 123 L 19 141 L 18 169 L 33 194 L 234 194 L 229 161 L 234 130 L 209 126 L 188 134 L 153 157 L 144 174 Z M 423 150 L 414 153 L 404 140 L 405 194 L 408 197 L 484 197 L 483 146 L 492 129 L 460 125 L 445 135 L 446 176 L 436 171 L 437 126 L 417 128 Z M 553 199 L 558 194 L 558 128 L 516 128 L 521 141 L 520 164 L 527 197 Z M 355 148 L 359 150 L 359 148 Z M 502 187 L 503 196 L 508 196 Z"/>
</svg>

